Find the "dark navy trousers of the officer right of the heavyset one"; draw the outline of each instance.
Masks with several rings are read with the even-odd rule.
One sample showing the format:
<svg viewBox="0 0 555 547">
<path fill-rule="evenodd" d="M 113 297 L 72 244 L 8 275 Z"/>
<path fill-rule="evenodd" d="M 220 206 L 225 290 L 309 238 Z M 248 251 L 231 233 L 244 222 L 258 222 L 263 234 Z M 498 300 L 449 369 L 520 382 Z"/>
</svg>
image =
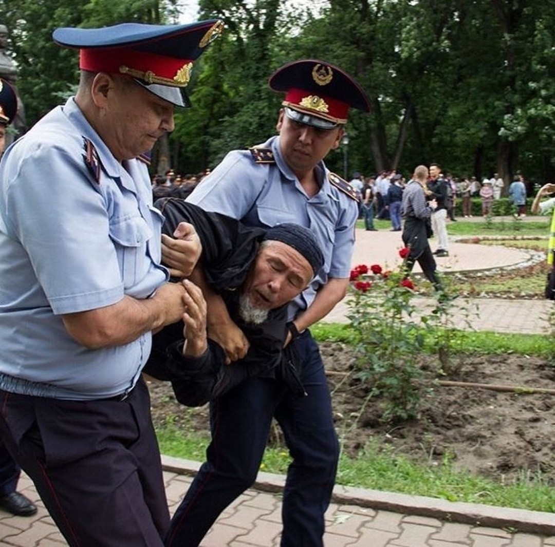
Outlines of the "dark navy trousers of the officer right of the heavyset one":
<svg viewBox="0 0 555 547">
<path fill-rule="evenodd" d="M 198 546 L 221 511 L 254 483 L 273 417 L 293 458 L 283 495 L 281 546 L 323 545 L 339 443 L 316 342 L 306 331 L 294 343 L 307 396 L 292 396 L 281 381 L 254 377 L 211 403 L 206 462 L 175 511 L 168 547 Z"/>
</svg>

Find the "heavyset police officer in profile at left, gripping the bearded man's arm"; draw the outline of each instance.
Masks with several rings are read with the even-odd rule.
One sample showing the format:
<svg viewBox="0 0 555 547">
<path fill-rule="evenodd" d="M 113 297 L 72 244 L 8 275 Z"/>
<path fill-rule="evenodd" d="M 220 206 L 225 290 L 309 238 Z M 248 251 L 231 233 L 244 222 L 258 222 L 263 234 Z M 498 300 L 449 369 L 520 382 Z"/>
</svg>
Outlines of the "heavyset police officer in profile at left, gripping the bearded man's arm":
<svg viewBox="0 0 555 547">
<path fill-rule="evenodd" d="M 162 547 L 169 524 L 140 376 L 185 290 L 160 266 L 142 154 L 219 28 L 57 29 L 80 50 L 77 94 L 2 159 L 0 435 L 71 546 Z"/>
</svg>

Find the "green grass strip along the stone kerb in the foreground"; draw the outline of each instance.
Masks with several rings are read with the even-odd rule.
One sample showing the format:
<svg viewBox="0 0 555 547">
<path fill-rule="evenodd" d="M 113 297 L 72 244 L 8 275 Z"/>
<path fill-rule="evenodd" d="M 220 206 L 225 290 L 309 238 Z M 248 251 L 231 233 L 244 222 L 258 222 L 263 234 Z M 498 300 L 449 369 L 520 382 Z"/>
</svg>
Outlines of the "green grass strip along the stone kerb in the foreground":
<svg viewBox="0 0 555 547">
<path fill-rule="evenodd" d="M 173 424 L 157 430 L 160 450 L 178 458 L 203 461 L 208 435 L 184 435 Z M 424 456 L 424 455 L 423 455 Z M 423 457 L 426 462 L 426 457 Z M 260 470 L 285 474 L 291 459 L 285 448 L 267 448 Z M 385 492 L 423 495 L 450 502 L 483 503 L 533 511 L 555 511 L 553 488 L 541 473 L 526 474 L 512 483 L 499 483 L 442 463 L 416 464 L 387 447 L 369 443 L 357 458 L 341 455 L 337 484 Z"/>
</svg>

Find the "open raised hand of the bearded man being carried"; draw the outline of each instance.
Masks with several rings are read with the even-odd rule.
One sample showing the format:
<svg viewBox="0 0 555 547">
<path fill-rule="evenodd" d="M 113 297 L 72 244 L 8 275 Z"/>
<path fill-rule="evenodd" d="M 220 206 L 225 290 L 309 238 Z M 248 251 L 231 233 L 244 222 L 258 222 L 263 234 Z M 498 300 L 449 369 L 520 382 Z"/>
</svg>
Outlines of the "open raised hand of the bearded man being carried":
<svg viewBox="0 0 555 547">
<path fill-rule="evenodd" d="M 192 281 L 187 279 L 182 281 L 185 288 L 183 303 L 185 312 L 183 313 L 183 337 L 185 345 L 183 354 L 198 357 L 208 348 L 206 340 L 206 301 L 203 292 Z"/>
</svg>

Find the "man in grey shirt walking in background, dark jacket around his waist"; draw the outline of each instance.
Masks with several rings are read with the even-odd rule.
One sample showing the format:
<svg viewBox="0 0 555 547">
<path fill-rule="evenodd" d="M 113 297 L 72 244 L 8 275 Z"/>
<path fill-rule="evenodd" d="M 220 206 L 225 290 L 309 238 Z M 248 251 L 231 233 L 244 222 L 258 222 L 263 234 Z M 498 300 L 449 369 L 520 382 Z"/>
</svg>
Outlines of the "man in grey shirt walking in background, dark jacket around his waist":
<svg viewBox="0 0 555 547">
<path fill-rule="evenodd" d="M 428 168 L 425 165 L 418 165 L 412 180 L 407 184 L 403 193 L 401 210 L 405 225 L 402 240 L 410 249 L 410 254 L 405 262 L 405 273 L 408 276 L 415 262 L 418 262 L 433 288 L 442 293 L 443 286 L 437 276 L 436 261 L 428 243 L 428 230 L 431 231 L 430 216 L 435 211 L 437 202 L 435 199 L 426 202 L 424 187 L 427 178 Z"/>
</svg>

